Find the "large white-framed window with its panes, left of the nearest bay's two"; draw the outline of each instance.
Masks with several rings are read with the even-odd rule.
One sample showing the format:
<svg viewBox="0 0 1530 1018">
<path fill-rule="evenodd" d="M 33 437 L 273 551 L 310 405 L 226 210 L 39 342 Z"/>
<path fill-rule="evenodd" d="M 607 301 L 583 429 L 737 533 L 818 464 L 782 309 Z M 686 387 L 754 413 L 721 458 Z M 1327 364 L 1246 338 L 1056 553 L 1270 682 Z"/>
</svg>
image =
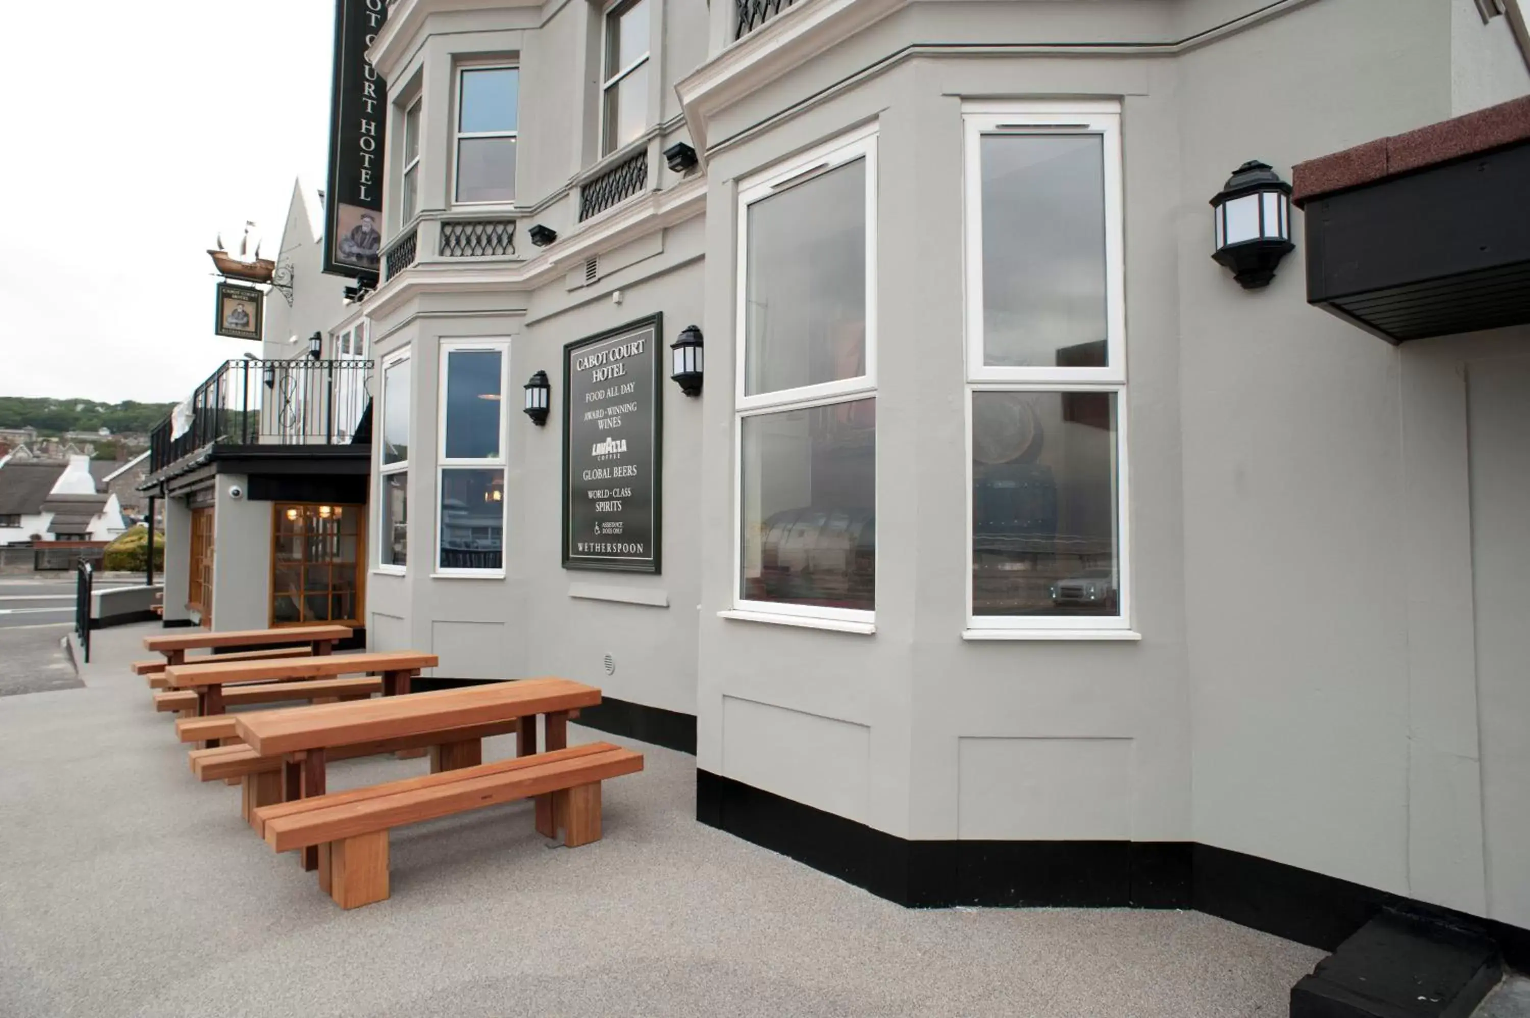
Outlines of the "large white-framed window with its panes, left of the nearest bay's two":
<svg viewBox="0 0 1530 1018">
<path fill-rule="evenodd" d="M 869 632 L 877 594 L 877 132 L 741 184 L 737 617 Z"/>
</svg>

